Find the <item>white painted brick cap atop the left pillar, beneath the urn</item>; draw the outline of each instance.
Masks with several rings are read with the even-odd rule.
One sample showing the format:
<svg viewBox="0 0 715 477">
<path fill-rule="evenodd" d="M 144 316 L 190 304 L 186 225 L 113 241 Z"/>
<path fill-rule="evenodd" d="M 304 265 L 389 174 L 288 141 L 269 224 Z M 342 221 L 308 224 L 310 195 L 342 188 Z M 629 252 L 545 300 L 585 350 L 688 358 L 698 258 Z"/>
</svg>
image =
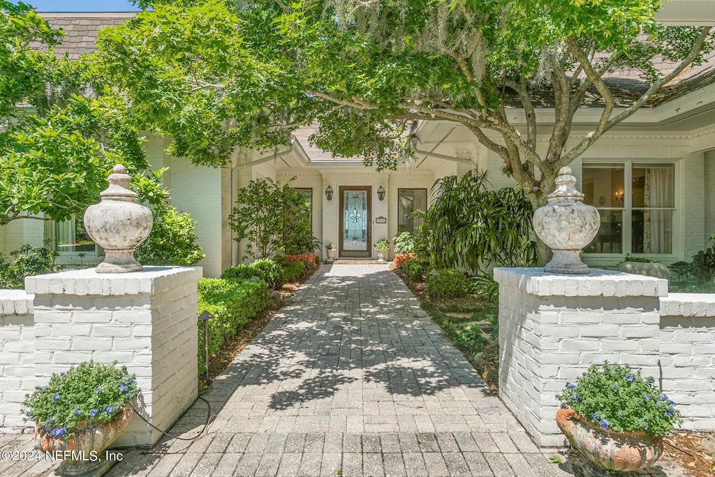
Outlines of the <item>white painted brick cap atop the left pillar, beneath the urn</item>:
<svg viewBox="0 0 715 477">
<path fill-rule="evenodd" d="M 201 277 L 201 267 L 146 266 L 131 273 L 97 273 L 88 268 L 27 277 L 25 290 L 37 295 L 142 295 L 197 282 Z"/>
</svg>

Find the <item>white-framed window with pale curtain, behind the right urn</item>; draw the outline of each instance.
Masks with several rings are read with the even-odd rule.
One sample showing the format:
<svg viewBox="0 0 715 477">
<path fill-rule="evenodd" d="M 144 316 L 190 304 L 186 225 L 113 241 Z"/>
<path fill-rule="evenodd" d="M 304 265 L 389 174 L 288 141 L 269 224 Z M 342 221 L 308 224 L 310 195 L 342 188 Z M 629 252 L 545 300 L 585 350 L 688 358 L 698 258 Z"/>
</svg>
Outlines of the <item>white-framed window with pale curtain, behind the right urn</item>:
<svg viewBox="0 0 715 477">
<path fill-rule="evenodd" d="M 673 253 L 675 166 L 635 162 L 583 164 L 583 194 L 601 215 L 590 253 Z"/>
</svg>

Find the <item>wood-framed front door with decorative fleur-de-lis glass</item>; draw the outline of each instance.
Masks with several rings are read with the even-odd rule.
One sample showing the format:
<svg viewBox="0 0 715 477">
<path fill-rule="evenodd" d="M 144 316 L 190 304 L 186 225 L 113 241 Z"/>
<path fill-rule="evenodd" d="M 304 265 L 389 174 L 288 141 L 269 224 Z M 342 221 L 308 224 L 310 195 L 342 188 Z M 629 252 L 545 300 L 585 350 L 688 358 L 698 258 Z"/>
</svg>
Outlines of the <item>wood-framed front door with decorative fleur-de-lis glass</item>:
<svg viewBox="0 0 715 477">
<path fill-rule="evenodd" d="M 340 187 L 340 257 L 372 256 L 370 186 Z"/>
</svg>

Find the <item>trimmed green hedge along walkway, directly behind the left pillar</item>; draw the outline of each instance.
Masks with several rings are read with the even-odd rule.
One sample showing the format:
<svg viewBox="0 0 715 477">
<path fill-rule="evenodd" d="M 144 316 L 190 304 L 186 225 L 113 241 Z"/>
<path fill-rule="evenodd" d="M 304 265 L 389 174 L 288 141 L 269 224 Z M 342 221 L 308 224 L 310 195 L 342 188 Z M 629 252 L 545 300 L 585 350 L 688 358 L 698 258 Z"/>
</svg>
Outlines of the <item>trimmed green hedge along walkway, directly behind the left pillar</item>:
<svg viewBox="0 0 715 477">
<path fill-rule="evenodd" d="M 199 315 L 207 311 L 214 316 L 209 320 L 209 355 L 268 306 L 268 287 L 261 280 L 202 278 L 198 288 Z M 204 328 L 199 323 L 199 373 L 206 370 L 203 343 Z"/>
</svg>

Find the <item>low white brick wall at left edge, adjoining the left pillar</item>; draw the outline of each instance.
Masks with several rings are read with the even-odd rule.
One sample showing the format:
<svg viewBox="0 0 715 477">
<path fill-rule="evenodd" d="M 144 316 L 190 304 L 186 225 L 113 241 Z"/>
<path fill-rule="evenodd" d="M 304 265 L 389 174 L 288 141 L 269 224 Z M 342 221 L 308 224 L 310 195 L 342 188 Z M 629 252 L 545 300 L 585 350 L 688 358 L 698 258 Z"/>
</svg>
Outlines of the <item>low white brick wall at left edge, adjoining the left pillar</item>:
<svg viewBox="0 0 715 477">
<path fill-rule="evenodd" d="M 35 387 L 32 298 L 24 290 L 0 290 L 0 433 L 27 426 L 20 408 Z"/>
</svg>

